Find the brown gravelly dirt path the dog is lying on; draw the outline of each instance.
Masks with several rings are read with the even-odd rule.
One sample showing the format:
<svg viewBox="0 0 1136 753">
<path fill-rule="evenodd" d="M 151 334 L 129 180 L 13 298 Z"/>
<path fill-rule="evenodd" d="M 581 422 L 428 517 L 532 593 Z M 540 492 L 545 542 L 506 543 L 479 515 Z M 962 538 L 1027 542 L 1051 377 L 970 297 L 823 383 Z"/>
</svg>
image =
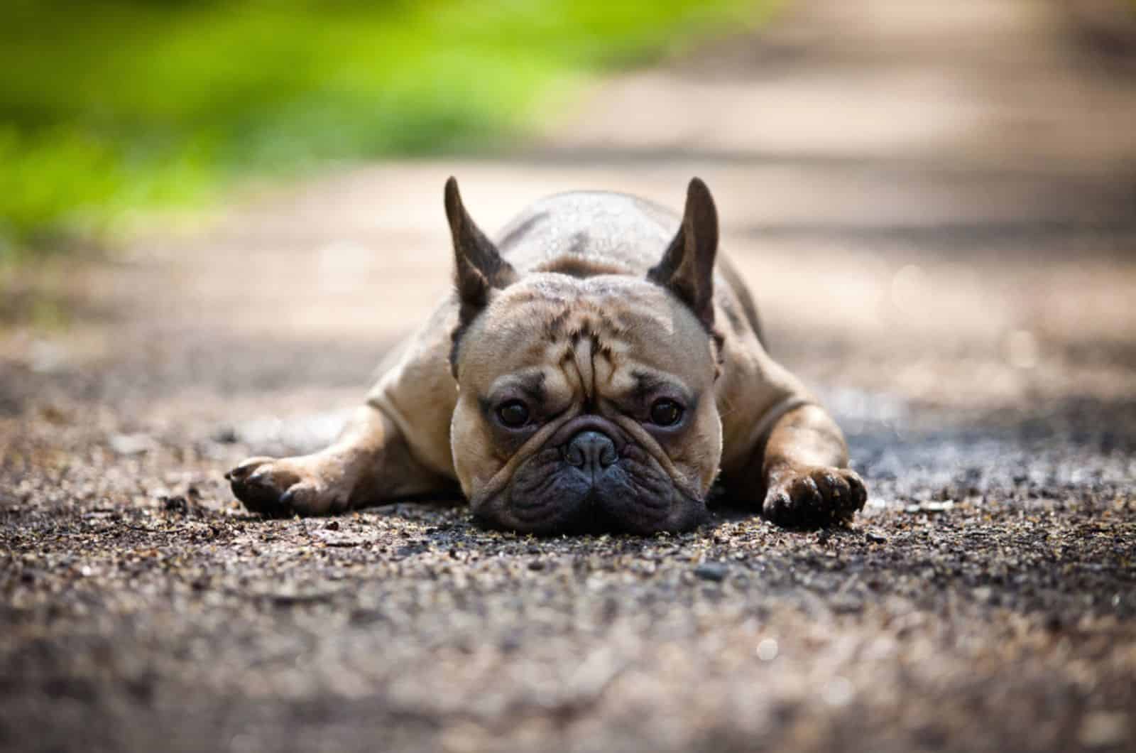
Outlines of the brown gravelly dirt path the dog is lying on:
<svg viewBox="0 0 1136 753">
<path fill-rule="evenodd" d="M 37 280 L 73 322 L 0 341 L 0 746 L 1130 748 L 1136 83 L 1056 7 L 802 2 L 506 158 L 266 189 Z M 704 177 L 862 519 L 243 515 L 220 472 L 333 432 L 440 295 L 451 173 L 486 226 Z"/>
</svg>

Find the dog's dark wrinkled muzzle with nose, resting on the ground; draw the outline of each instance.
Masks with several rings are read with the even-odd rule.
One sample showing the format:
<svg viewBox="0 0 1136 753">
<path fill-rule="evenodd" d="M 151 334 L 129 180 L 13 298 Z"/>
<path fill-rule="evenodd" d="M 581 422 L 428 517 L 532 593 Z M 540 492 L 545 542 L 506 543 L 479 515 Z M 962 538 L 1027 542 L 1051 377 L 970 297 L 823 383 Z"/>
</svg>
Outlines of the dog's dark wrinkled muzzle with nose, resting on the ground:
<svg viewBox="0 0 1136 753">
<path fill-rule="evenodd" d="M 705 515 L 701 496 L 676 485 L 654 453 L 591 414 L 566 421 L 471 506 L 483 526 L 533 533 L 682 531 Z"/>
</svg>

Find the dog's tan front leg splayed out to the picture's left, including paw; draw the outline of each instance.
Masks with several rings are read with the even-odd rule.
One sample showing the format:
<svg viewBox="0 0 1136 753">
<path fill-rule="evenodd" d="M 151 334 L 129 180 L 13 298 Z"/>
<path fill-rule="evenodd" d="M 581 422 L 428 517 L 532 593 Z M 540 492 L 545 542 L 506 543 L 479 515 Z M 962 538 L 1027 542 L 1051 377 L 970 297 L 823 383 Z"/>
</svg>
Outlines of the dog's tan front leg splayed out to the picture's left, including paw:
<svg viewBox="0 0 1136 753">
<path fill-rule="evenodd" d="M 245 507 L 266 515 L 327 515 L 445 486 L 411 457 L 394 422 L 371 405 L 360 407 L 318 453 L 251 457 L 225 478 Z"/>
</svg>

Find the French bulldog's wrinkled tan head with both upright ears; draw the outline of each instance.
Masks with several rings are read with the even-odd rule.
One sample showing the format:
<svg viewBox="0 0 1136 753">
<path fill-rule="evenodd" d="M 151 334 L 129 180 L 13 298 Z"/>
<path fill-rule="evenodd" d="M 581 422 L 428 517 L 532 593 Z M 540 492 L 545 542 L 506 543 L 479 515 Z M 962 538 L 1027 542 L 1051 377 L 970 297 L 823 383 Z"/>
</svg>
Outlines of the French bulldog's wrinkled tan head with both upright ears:
<svg viewBox="0 0 1136 753">
<path fill-rule="evenodd" d="M 675 531 L 696 524 L 721 456 L 712 278 L 718 218 L 691 181 L 645 276 L 519 276 L 445 208 L 461 305 L 451 366 L 458 479 L 484 524 Z"/>
</svg>

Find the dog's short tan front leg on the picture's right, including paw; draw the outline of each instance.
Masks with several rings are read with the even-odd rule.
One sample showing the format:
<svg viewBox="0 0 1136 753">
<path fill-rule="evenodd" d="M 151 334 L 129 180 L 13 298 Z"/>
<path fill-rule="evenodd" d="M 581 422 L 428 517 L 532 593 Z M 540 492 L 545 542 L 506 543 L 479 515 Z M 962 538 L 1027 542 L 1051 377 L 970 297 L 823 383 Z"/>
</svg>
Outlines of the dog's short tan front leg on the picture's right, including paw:
<svg viewBox="0 0 1136 753">
<path fill-rule="evenodd" d="M 779 526 L 804 528 L 852 518 L 868 495 L 847 461 L 844 436 L 824 408 L 788 411 L 765 444 L 762 514 Z"/>
</svg>

